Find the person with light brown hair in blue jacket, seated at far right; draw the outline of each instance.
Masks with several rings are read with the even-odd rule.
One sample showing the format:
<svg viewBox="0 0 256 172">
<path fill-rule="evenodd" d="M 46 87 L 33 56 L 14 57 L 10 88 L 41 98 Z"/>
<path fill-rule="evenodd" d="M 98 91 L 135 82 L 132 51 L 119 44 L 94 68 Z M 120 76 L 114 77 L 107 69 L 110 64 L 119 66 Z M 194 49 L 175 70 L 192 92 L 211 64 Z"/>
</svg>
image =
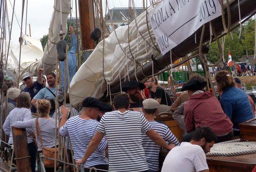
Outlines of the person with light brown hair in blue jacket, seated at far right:
<svg viewBox="0 0 256 172">
<path fill-rule="evenodd" d="M 254 117 L 247 95 L 236 87 L 234 78 L 227 71 L 216 74 L 217 89 L 222 92 L 220 103 L 233 123 L 234 136 L 240 135 L 238 124 Z"/>
</svg>

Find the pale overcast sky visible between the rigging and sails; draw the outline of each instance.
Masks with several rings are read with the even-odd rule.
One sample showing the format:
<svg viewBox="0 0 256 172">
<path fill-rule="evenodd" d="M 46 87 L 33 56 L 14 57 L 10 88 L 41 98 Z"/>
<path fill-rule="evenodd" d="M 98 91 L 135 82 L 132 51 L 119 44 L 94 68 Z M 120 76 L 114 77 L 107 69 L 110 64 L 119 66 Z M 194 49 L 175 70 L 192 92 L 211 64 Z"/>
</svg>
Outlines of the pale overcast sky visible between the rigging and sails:
<svg viewBox="0 0 256 172">
<path fill-rule="evenodd" d="M 12 7 L 14 0 L 7 0 L 9 21 L 11 22 Z M 75 17 L 75 0 L 73 1 L 72 17 Z M 25 0 L 26 2 L 26 0 Z M 78 2 L 78 0 L 77 0 Z M 102 0 L 105 2 L 105 0 Z M 108 0 L 109 7 L 128 7 L 129 0 Z M 134 0 L 136 7 L 142 7 L 142 0 Z M 29 33 L 29 24 L 31 25 L 31 35 L 35 38 L 41 38 L 43 35 L 48 34 L 48 28 L 53 13 L 54 0 L 28 0 L 28 18 L 27 18 L 27 34 Z M 103 9 L 105 9 L 105 3 L 103 3 Z M 104 10 L 103 10 L 104 11 Z M 15 1 L 15 14 L 17 16 L 18 23 L 21 23 L 22 18 L 22 0 Z M 78 12 L 79 15 L 79 12 Z M 24 25 L 23 32 L 25 33 L 25 18 L 26 18 L 26 3 L 24 12 Z M 18 37 L 20 34 L 20 28 L 18 26 L 16 18 L 13 19 L 12 28 L 12 41 L 14 44 L 18 44 Z"/>
</svg>

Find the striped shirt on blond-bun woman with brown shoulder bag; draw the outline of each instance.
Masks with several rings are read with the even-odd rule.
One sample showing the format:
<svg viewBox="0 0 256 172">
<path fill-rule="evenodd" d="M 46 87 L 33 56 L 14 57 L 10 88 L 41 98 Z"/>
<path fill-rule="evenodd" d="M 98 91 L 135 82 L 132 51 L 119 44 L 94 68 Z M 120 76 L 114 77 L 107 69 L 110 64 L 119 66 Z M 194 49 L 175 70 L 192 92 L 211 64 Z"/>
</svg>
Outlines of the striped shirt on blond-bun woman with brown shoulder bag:
<svg viewBox="0 0 256 172">
<path fill-rule="evenodd" d="M 38 151 L 42 150 L 42 147 L 54 147 L 55 146 L 55 119 L 50 118 L 50 119 L 45 119 L 45 118 L 38 118 L 38 123 L 39 123 L 39 128 L 40 128 L 40 133 L 41 133 L 41 138 L 42 138 L 42 147 L 41 147 L 41 142 L 39 140 L 39 136 L 37 135 L 36 132 L 36 125 L 35 125 L 35 120 L 31 119 L 28 121 L 17 121 L 14 123 L 14 127 L 16 128 L 33 128 L 34 133 L 36 134 L 36 142 L 38 146 Z M 58 128 L 58 121 L 57 121 L 57 128 Z M 57 145 L 58 145 L 58 133 L 57 133 Z"/>
</svg>

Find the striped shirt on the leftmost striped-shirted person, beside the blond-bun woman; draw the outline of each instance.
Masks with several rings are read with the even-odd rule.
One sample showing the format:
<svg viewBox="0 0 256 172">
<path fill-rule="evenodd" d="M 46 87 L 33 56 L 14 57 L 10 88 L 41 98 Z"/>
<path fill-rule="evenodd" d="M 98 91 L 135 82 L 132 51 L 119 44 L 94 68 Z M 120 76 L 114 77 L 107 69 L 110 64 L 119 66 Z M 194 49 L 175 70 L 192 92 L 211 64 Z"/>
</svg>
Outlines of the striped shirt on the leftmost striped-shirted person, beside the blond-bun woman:
<svg viewBox="0 0 256 172">
<path fill-rule="evenodd" d="M 26 121 L 32 119 L 31 111 L 30 109 L 27 109 L 25 107 L 15 107 L 7 116 L 5 123 L 3 125 L 3 129 L 6 135 L 10 135 L 9 144 L 13 144 L 13 138 L 12 138 L 12 128 L 11 126 L 16 122 L 16 121 Z M 33 142 L 33 138 L 29 135 L 33 132 L 32 129 L 28 128 L 26 129 L 27 132 L 27 140 L 28 143 Z"/>
</svg>

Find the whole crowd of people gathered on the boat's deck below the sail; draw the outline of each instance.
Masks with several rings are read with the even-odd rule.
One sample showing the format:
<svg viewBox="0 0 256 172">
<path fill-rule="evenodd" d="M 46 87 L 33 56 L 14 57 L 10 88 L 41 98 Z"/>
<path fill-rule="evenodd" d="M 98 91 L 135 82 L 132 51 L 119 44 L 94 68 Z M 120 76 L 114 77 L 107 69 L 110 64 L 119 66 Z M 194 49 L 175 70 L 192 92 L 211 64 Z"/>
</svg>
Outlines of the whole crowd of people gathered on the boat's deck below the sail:
<svg viewBox="0 0 256 172">
<path fill-rule="evenodd" d="M 75 43 L 68 53 L 72 79 L 76 37 L 72 27 L 70 31 Z M 42 148 L 58 146 L 59 135 L 66 138 L 68 161 L 74 158 L 86 171 L 90 167 L 97 171 L 159 171 L 161 148 L 170 150 L 162 172 L 208 171 L 205 154 L 215 143 L 239 136 L 239 123 L 252 119 L 255 112 L 254 103 L 241 90 L 238 78 L 219 68 L 217 73 L 211 70 L 220 99 L 205 91 L 207 82 L 198 74 L 183 84 L 183 93 L 174 102 L 157 77 L 149 77 L 145 83 L 125 82 L 121 88 L 125 94 L 116 95 L 112 106 L 87 97 L 80 112 L 71 109 L 69 94 L 65 94 L 66 102 L 59 102 L 60 108 L 55 110 L 58 83 L 54 72 L 44 78 L 44 70 L 39 69 L 34 82 L 32 75 L 25 73 L 22 80 L 26 87 L 22 92 L 9 84 L 8 100 L 3 104 L 8 114 L 6 119 L 2 115 L 3 130 L 9 136 L 8 144 L 13 144 L 11 127 L 26 128 L 32 171 Z M 64 72 L 62 90 L 67 90 Z M 167 125 L 155 121 L 161 112 L 172 115 L 183 130 L 181 143 Z M 58 114 L 60 120 L 55 119 Z"/>
</svg>

